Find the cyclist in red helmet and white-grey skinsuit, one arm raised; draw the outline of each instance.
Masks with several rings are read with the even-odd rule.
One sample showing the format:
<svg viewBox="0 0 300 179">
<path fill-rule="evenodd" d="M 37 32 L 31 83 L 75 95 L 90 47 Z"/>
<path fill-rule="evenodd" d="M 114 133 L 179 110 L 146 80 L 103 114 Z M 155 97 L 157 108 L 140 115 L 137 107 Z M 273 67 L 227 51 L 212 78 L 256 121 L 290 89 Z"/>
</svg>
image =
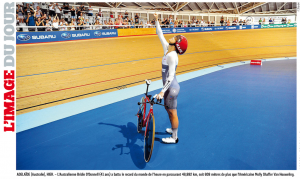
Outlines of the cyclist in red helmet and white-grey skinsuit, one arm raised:
<svg viewBox="0 0 300 179">
<path fill-rule="evenodd" d="M 174 36 L 169 39 L 169 43 L 164 38 L 161 27 L 158 22 L 158 15 L 155 13 L 156 34 L 164 49 L 164 57 L 162 59 L 162 80 L 163 88 L 157 95 L 157 99 L 164 98 L 166 111 L 168 112 L 172 128 L 167 128 L 166 131 L 172 134 L 172 137 L 163 138 L 164 143 L 178 143 L 178 116 L 177 116 L 177 96 L 180 91 L 180 86 L 176 79 L 176 68 L 178 65 L 178 53 L 184 54 L 187 49 L 187 39 L 182 35 Z"/>
</svg>

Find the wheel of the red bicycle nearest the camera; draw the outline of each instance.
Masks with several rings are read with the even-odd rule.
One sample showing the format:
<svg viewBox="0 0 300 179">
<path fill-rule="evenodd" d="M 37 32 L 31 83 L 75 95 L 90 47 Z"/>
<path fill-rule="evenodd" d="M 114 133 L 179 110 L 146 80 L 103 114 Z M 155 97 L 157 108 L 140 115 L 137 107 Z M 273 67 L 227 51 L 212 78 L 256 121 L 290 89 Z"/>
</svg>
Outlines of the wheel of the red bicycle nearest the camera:
<svg viewBox="0 0 300 179">
<path fill-rule="evenodd" d="M 144 137 L 144 159 L 146 162 L 149 162 L 151 159 L 153 147 L 154 147 L 154 139 L 155 139 L 155 119 L 151 114 L 149 121 L 147 122 L 145 137 Z"/>
</svg>

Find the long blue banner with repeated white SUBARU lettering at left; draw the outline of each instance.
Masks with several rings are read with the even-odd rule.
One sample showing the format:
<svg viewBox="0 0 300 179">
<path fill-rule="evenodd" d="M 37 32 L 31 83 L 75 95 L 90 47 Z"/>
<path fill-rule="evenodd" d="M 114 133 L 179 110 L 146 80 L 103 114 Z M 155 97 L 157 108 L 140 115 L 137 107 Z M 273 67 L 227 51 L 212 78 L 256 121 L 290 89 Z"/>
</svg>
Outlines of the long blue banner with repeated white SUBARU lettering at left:
<svg viewBox="0 0 300 179">
<path fill-rule="evenodd" d="M 48 32 L 17 32 L 17 44 L 57 42 L 80 39 L 118 37 L 117 29 L 111 30 L 80 30 L 80 31 L 48 31 Z"/>
</svg>

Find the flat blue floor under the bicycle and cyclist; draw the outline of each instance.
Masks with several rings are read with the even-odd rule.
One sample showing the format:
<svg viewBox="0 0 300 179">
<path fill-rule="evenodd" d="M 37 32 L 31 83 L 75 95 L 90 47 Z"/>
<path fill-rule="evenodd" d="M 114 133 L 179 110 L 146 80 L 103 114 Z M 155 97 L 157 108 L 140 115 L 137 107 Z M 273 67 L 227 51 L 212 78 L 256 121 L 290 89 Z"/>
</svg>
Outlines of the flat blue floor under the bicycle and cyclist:
<svg viewBox="0 0 300 179">
<path fill-rule="evenodd" d="M 157 84 L 162 85 L 160 81 Z M 149 163 L 143 159 L 143 135 L 136 132 L 134 115 L 142 97 L 138 95 L 44 123 L 41 121 L 45 118 L 59 116 L 59 110 L 17 116 L 16 168 L 296 169 L 295 58 L 267 60 L 262 66 L 224 65 L 223 70 L 182 80 L 180 86 L 179 143 L 161 143 L 161 138 L 169 136 L 165 128 L 170 124 L 163 107 L 155 106 L 156 141 Z M 159 91 L 157 88 L 151 94 Z M 22 128 L 28 121 L 36 125 Z"/>
</svg>

